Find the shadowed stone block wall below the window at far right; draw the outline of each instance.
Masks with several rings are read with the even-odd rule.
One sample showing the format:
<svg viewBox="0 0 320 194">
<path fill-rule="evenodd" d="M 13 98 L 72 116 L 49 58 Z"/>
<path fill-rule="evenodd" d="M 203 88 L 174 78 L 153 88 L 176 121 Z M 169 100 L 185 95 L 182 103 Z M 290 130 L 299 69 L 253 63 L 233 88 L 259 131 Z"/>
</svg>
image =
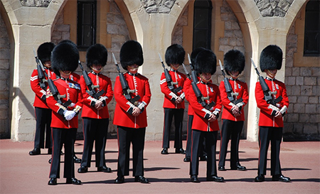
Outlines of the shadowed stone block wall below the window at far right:
<svg viewBox="0 0 320 194">
<path fill-rule="evenodd" d="M 284 139 L 319 140 L 320 67 L 294 67 L 297 34 L 294 24 L 287 36 L 285 84 L 289 97 L 288 114 L 284 116 Z"/>
</svg>

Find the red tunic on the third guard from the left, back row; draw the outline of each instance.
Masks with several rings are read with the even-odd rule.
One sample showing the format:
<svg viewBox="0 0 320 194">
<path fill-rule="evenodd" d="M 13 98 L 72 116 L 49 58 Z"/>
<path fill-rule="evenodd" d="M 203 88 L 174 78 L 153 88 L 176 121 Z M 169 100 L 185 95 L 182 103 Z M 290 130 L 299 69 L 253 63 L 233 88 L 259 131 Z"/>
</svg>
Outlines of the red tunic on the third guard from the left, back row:
<svg viewBox="0 0 320 194">
<path fill-rule="evenodd" d="M 87 93 L 87 85 L 85 84 L 85 78 L 83 75 L 80 78 L 80 86 L 81 86 L 81 92 L 82 92 L 82 113 L 81 117 L 88 117 L 92 119 L 107 119 L 109 118 L 109 111 L 107 104 L 111 101 L 113 97 L 113 91 L 112 91 L 112 83 L 109 77 L 102 75 L 102 73 L 95 73 L 95 72 L 89 72 L 87 74 L 93 85 L 99 85 L 99 88 L 95 88 L 95 92 L 99 92 L 101 90 L 105 90 L 105 92 L 99 97 L 100 101 L 103 102 L 104 108 L 103 109 L 96 109 L 95 108 L 95 102 L 97 99 L 91 97 Z"/>
</svg>

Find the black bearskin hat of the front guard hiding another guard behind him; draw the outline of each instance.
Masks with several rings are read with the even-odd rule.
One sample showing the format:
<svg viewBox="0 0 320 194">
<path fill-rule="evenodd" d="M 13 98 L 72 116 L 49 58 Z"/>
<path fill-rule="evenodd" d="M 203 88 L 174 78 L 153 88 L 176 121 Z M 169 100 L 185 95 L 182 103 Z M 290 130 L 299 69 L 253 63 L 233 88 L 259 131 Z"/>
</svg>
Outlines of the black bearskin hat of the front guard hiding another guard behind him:
<svg viewBox="0 0 320 194">
<path fill-rule="evenodd" d="M 201 74 L 209 72 L 211 75 L 217 70 L 217 58 L 212 50 L 203 50 L 196 56 L 196 71 Z"/>
</svg>

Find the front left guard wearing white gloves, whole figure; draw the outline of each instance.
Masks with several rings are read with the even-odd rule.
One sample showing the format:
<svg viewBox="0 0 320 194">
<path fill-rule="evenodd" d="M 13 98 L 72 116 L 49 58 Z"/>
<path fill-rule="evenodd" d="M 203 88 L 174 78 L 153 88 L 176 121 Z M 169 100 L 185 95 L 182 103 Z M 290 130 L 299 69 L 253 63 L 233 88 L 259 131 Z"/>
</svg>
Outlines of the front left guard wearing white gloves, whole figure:
<svg viewBox="0 0 320 194">
<path fill-rule="evenodd" d="M 75 43 L 62 41 L 55 46 L 51 56 L 52 68 L 57 79 L 47 90 L 48 107 L 52 109 L 53 153 L 48 185 L 56 185 L 60 178 L 60 150 L 65 146 L 64 178 L 66 183 L 80 185 L 75 178 L 73 161 L 78 113 L 82 108 L 82 95 L 78 82 L 70 80 L 71 72 L 78 68 L 79 51 Z M 58 92 L 57 92 L 58 91 Z M 68 105 L 67 105 L 68 103 Z"/>
</svg>

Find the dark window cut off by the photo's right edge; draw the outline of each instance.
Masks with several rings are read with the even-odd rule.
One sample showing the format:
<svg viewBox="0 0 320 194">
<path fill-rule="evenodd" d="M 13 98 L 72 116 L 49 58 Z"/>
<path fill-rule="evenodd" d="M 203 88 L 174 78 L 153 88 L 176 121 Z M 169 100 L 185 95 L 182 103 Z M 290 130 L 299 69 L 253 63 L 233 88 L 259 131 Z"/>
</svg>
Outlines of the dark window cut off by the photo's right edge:
<svg viewBox="0 0 320 194">
<path fill-rule="evenodd" d="M 306 4 L 304 24 L 304 56 L 320 56 L 320 1 Z"/>
</svg>

